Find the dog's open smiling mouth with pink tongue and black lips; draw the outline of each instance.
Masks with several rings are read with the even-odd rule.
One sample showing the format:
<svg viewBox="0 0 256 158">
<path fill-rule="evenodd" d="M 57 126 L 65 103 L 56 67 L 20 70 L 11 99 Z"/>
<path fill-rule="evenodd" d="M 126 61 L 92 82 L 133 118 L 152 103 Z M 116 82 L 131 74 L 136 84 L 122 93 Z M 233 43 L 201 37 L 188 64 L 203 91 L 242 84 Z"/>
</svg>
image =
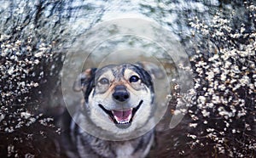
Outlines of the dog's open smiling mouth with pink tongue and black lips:
<svg viewBox="0 0 256 158">
<path fill-rule="evenodd" d="M 131 124 L 133 116 L 136 114 L 137 110 L 143 104 L 143 100 L 135 108 L 131 108 L 130 110 L 107 110 L 105 109 L 102 104 L 99 106 L 102 108 L 104 112 L 108 114 L 110 119 L 118 126 L 118 125 L 125 125 Z"/>
</svg>

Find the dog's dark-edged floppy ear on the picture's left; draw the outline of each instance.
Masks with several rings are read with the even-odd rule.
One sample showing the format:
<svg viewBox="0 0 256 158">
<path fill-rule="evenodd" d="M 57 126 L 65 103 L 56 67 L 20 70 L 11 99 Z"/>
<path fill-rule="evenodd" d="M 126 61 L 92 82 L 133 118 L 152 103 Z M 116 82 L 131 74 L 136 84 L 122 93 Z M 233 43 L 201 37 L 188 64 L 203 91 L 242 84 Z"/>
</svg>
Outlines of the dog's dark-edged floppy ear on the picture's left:
<svg viewBox="0 0 256 158">
<path fill-rule="evenodd" d="M 79 74 L 76 81 L 73 83 L 73 91 L 80 92 L 83 91 L 88 92 L 88 88 L 92 87 L 94 82 L 94 76 L 96 73 L 96 68 L 86 69 L 84 72 Z"/>
</svg>

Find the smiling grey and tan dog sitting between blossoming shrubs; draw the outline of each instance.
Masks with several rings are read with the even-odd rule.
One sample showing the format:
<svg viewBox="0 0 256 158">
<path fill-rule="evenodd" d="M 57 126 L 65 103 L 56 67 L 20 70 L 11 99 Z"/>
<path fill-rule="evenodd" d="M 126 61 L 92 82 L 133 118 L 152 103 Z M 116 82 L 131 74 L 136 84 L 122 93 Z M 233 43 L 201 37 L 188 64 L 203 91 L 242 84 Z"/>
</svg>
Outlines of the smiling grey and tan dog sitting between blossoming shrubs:
<svg viewBox="0 0 256 158">
<path fill-rule="evenodd" d="M 73 115 L 68 157 L 143 158 L 154 144 L 154 79 L 158 66 L 106 65 L 85 70 L 74 82 L 84 102 Z M 149 130 L 148 130 L 149 129 Z M 77 154 L 74 154 L 77 153 Z"/>
</svg>

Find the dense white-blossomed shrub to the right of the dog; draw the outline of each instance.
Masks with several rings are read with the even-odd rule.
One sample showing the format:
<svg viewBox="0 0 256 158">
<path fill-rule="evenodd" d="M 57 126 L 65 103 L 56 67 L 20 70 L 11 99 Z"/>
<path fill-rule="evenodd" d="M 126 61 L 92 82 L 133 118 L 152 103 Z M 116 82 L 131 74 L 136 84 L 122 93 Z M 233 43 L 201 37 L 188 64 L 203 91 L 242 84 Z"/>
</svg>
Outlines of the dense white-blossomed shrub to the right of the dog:
<svg viewBox="0 0 256 158">
<path fill-rule="evenodd" d="M 247 7 L 252 24 L 256 7 Z M 232 27 L 216 14 L 210 23 L 191 20 L 193 34 L 203 37 L 190 59 L 195 75 L 190 90 L 191 147 L 212 145 L 213 155 L 251 157 L 256 150 L 256 31 Z M 196 41 L 196 40 L 195 40 Z"/>
</svg>

